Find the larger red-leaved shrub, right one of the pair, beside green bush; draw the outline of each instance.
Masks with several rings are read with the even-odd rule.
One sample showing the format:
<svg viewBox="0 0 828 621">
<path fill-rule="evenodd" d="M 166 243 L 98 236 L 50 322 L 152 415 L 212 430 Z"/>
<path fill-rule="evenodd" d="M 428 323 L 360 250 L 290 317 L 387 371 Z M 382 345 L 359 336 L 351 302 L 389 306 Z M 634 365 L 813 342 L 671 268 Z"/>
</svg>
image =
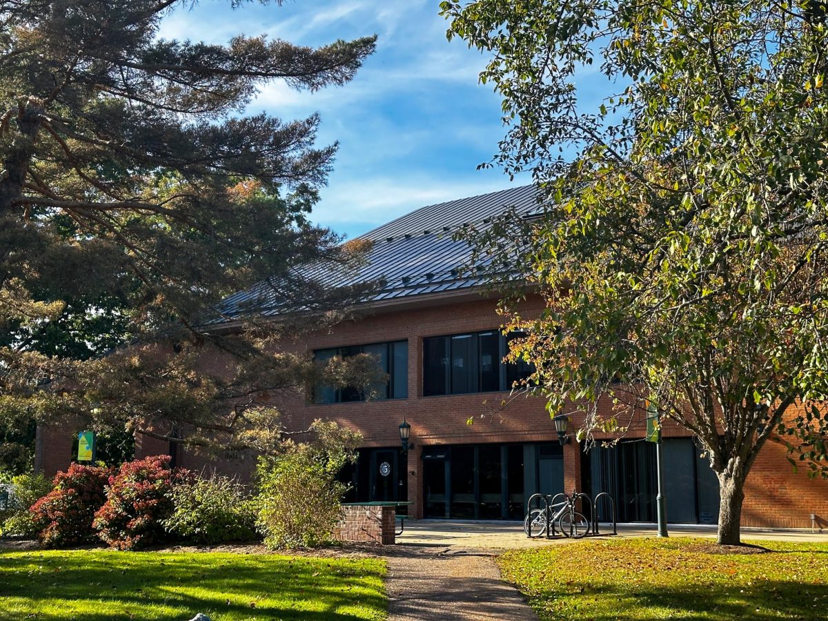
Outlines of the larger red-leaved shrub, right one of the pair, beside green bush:
<svg viewBox="0 0 828 621">
<path fill-rule="evenodd" d="M 189 470 L 170 468 L 169 455 L 130 461 L 109 478 L 106 503 L 95 513 L 98 536 L 118 550 L 161 541 L 161 520 L 172 513 L 175 484 L 192 479 Z"/>
</svg>

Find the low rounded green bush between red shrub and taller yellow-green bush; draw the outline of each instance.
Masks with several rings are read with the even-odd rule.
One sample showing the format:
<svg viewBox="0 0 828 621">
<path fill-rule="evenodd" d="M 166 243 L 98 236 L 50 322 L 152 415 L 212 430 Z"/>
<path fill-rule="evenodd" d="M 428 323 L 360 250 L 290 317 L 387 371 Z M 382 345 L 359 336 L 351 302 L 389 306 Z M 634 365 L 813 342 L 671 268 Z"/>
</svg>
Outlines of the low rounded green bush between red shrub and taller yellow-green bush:
<svg viewBox="0 0 828 621">
<path fill-rule="evenodd" d="M 257 538 L 255 503 L 233 479 L 213 474 L 177 484 L 168 495 L 174 509 L 161 524 L 175 539 L 214 544 Z"/>
</svg>

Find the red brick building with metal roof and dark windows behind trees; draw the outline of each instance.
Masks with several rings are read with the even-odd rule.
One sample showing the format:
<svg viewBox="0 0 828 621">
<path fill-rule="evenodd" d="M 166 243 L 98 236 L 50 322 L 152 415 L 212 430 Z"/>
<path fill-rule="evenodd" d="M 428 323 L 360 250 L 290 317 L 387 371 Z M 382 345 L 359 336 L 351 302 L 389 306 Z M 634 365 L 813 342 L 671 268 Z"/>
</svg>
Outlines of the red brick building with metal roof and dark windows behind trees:
<svg viewBox="0 0 828 621">
<path fill-rule="evenodd" d="M 480 282 L 459 276 L 469 248 L 451 234 L 464 224 L 485 223 L 507 206 L 530 213 L 536 208 L 532 187 L 431 205 L 366 233 L 373 248 L 360 277 L 385 277 L 386 286 L 359 319 L 303 337 L 301 347 L 320 359 L 378 356 L 388 373 L 384 398 L 365 402 L 354 390 L 316 388 L 312 398 L 297 395 L 285 404 L 286 425 L 305 429 L 325 418 L 363 434 L 357 464 L 343 473 L 352 484 L 350 501 L 409 500 L 416 518 L 520 519 L 532 493 L 576 488 L 612 493 L 620 522 L 653 522 L 655 452 L 640 441 L 643 423 L 616 447 L 585 453 L 572 433 L 561 445 L 542 399 L 519 397 L 498 407 L 527 369 L 503 363 L 507 342 L 498 330 L 496 300 L 482 293 Z M 230 298 L 225 312 L 232 314 L 246 295 Z M 524 314 L 540 309 L 541 302 L 530 298 Z M 609 400 L 599 406 L 609 408 Z M 403 419 L 411 425 L 407 451 L 399 437 Z M 571 421 L 573 431 L 578 423 Z M 47 433 L 41 433 L 41 445 L 48 445 Z M 715 523 L 718 482 L 693 438 L 670 424 L 663 436 L 668 522 Z M 169 450 L 147 438 L 137 444 L 139 457 Z M 68 460 L 43 453 L 47 471 Z M 177 461 L 195 469 L 205 465 L 186 451 Z M 253 459 L 220 466 L 246 475 Z M 795 474 L 779 445 L 763 449 L 746 496 L 744 526 L 811 527 L 812 515 L 817 526 L 828 519 L 828 484 Z"/>
</svg>

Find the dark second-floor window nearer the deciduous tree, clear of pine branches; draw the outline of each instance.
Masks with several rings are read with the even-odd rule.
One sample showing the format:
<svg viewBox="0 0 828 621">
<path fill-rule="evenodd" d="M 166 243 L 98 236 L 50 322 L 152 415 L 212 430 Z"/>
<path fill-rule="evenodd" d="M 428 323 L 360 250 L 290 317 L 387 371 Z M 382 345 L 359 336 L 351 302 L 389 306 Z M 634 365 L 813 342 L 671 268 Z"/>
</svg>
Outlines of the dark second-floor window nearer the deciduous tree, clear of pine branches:
<svg viewBox="0 0 828 621">
<path fill-rule="evenodd" d="M 527 363 L 504 363 L 508 337 L 499 330 L 422 339 L 424 397 L 510 390 L 532 373 Z"/>
</svg>

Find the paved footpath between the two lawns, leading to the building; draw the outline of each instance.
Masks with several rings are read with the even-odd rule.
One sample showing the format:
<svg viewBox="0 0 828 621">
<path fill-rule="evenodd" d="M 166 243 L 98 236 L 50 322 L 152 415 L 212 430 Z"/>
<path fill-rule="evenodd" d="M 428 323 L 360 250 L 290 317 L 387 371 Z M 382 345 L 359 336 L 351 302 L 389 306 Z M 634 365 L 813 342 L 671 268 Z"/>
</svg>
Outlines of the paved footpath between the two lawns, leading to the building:
<svg viewBox="0 0 828 621">
<path fill-rule="evenodd" d="M 388 546 L 388 618 L 537 621 L 501 582 L 492 551 L 458 546 Z"/>
</svg>

